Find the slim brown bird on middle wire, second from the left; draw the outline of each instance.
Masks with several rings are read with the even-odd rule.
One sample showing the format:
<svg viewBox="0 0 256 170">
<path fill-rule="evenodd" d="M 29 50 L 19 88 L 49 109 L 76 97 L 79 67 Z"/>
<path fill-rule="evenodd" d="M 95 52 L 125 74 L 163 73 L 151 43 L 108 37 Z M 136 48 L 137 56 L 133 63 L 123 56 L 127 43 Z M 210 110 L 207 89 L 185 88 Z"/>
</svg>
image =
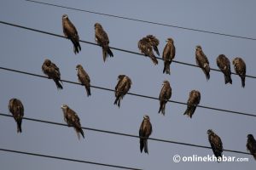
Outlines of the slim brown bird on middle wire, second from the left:
<svg viewBox="0 0 256 170">
<path fill-rule="evenodd" d="M 82 65 L 77 65 L 76 70 L 78 71 L 79 82 L 84 85 L 87 96 L 90 96 L 90 77 Z"/>
</svg>

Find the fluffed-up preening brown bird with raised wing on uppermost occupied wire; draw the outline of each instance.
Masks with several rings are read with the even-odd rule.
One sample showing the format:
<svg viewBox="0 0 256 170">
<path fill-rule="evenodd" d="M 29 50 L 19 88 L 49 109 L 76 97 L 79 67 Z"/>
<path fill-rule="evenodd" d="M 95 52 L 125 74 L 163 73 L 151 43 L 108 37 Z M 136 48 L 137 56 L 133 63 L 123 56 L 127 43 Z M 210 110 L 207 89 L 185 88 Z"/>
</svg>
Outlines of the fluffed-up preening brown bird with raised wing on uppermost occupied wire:
<svg viewBox="0 0 256 170">
<path fill-rule="evenodd" d="M 151 42 L 152 43 L 152 42 Z M 152 45 L 148 37 L 143 37 L 139 42 L 137 42 L 137 47 L 140 49 L 141 53 L 145 56 L 150 57 L 154 65 L 158 64 L 158 60 L 154 56 Z"/>
</svg>

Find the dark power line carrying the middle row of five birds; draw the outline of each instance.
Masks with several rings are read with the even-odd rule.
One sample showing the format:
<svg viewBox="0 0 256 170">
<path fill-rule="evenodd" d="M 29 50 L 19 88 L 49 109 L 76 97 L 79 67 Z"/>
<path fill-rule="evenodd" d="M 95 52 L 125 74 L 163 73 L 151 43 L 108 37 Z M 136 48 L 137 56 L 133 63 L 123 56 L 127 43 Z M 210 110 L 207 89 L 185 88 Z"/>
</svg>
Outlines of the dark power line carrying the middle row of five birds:
<svg viewBox="0 0 256 170">
<path fill-rule="evenodd" d="M 12 72 L 20 73 L 20 74 L 30 75 L 30 76 L 33 76 L 33 77 L 41 77 L 41 78 L 47 78 L 47 79 L 49 79 L 49 77 L 44 77 L 44 76 L 42 76 L 42 75 L 38 75 L 38 74 L 26 72 L 26 71 L 18 71 L 18 70 L 9 69 L 9 68 L 5 68 L 5 67 L 1 67 L 1 66 L 0 66 L 0 70 L 12 71 Z M 67 80 L 63 80 L 63 79 L 61 79 L 61 81 L 62 81 L 62 82 L 67 82 L 67 83 L 71 83 L 71 84 L 76 84 L 76 85 L 83 86 L 83 85 L 82 85 L 81 83 L 79 83 L 79 82 L 71 82 L 71 81 L 67 81 Z M 102 90 L 106 90 L 106 91 L 115 92 L 115 90 L 110 89 L 110 88 L 102 88 L 102 87 L 92 86 L 92 85 L 90 85 L 90 87 L 91 87 L 91 88 L 97 88 L 97 89 L 102 89 Z M 155 100 L 159 100 L 158 98 L 151 97 L 151 96 L 148 96 L 148 95 L 143 95 L 143 94 L 133 94 L 133 93 L 127 93 L 127 94 L 130 94 L 130 95 L 133 95 L 133 96 L 137 96 L 137 97 L 141 97 L 141 98 L 146 98 L 146 99 L 155 99 Z M 175 103 L 175 104 L 179 104 L 179 105 L 188 105 L 187 103 L 179 102 L 179 101 L 175 101 L 175 100 L 168 100 L 168 102 Z M 209 106 L 204 106 L 204 105 L 197 105 L 197 107 L 201 107 L 201 108 L 208 109 L 208 110 L 213 110 L 213 111 L 221 111 L 221 112 L 233 113 L 233 114 L 237 114 L 237 115 L 256 117 L 255 114 L 246 113 L 246 112 L 241 112 L 241 111 L 230 111 L 230 110 L 224 110 L 224 109 L 219 109 L 219 108 L 214 108 L 214 107 L 209 107 Z"/>
</svg>

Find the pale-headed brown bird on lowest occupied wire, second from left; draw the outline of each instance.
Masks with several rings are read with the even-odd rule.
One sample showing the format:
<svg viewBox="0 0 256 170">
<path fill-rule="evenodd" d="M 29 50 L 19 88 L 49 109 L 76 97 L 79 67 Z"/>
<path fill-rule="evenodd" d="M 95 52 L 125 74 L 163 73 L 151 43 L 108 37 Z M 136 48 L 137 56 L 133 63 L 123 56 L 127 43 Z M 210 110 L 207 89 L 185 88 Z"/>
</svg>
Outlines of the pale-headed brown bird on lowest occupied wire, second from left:
<svg viewBox="0 0 256 170">
<path fill-rule="evenodd" d="M 70 109 L 67 105 L 61 105 L 61 109 L 63 111 L 64 121 L 67 122 L 67 126 L 73 127 L 75 129 L 79 139 L 80 139 L 80 133 L 84 138 L 84 131 L 81 127 L 80 119 L 77 113 L 72 109 Z"/>
</svg>

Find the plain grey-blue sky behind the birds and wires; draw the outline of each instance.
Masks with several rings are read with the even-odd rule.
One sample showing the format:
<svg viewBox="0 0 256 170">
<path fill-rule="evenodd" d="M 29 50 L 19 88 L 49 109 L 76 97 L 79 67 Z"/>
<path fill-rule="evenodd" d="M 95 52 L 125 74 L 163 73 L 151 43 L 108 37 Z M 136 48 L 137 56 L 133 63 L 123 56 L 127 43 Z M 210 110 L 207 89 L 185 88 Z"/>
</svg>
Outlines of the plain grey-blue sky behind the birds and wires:
<svg viewBox="0 0 256 170">
<path fill-rule="evenodd" d="M 42 1 L 43 2 L 43 1 Z M 44 1 L 72 8 L 115 14 L 139 20 L 148 20 L 194 29 L 216 31 L 242 37 L 255 38 L 254 22 L 256 2 L 253 0 L 76 0 Z M 3 0 L 0 20 L 63 35 L 61 16 L 67 14 L 79 31 L 81 40 L 95 42 L 94 24 L 99 22 L 108 32 L 109 45 L 139 52 L 137 42 L 148 34 L 160 40 L 160 54 L 166 39 L 172 37 L 176 46 L 177 61 L 195 64 L 195 46 L 201 45 L 212 68 L 218 68 L 216 58 L 225 54 L 230 61 L 239 56 L 247 64 L 247 75 L 255 76 L 255 42 L 253 40 L 224 37 L 166 26 L 156 26 L 131 20 L 122 20 L 49 7 L 23 0 Z M 162 73 L 163 62 L 153 65 L 146 57 L 113 51 L 113 58 L 104 63 L 102 49 L 81 42 L 82 50 L 73 54 L 72 43 L 61 37 L 52 37 L 13 26 L 0 25 L 0 66 L 44 75 L 41 66 L 50 59 L 60 68 L 61 78 L 78 82 L 76 65 L 84 66 L 90 75 L 91 85 L 114 88 L 117 77 L 131 77 L 131 93 L 158 97 L 162 82 L 172 86 L 172 100 L 187 102 L 193 89 L 201 92 L 201 105 L 241 111 L 256 115 L 254 102 L 255 80 L 232 75 L 233 84 L 224 84 L 224 75 L 211 71 L 207 79 L 201 69 L 172 63 L 171 75 Z M 161 56 L 160 56 L 161 57 Z M 231 70 L 234 71 L 233 65 Z M 88 98 L 84 87 L 63 82 L 63 90 L 57 90 L 52 80 L 0 71 L 0 111 L 9 114 L 9 99 L 20 99 L 25 116 L 45 121 L 61 122 L 61 105 L 67 104 L 80 117 L 83 127 L 98 128 L 118 133 L 138 135 L 143 115 L 148 114 L 153 126 L 152 138 L 210 146 L 207 130 L 212 129 L 222 139 L 224 149 L 247 151 L 247 134 L 256 137 L 255 118 L 221 111 L 197 108 L 192 119 L 183 116 L 186 105 L 168 103 L 166 116 L 158 114 L 159 101 L 126 95 L 118 108 L 113 105 L 113 92 L 91 88 Z M 153 169 L 249 169 L 255 167 L 253 156 L 224 151 L 225 156 L 247 157 L 248 162 L 180 162 L 172 157 L 212 156 L 212 150 L 181 144 L 167 144 L 148 140 L 149 154 L 139 150 L 139 139 L 108 133 L 84 130 L 85 139 L 79 140 L 72 127 L 60 127 L 39 122 L 22 122 L 22 133 L 16 133 L 12 117 L 0 117 L 0 147 L 9 150 L 35 152 L 50 156 L 62 156 L 84 161 L 96 161 L 125 167 Z M 0 151 L 3 169 L 114 169 L 72 161 L 59 161 L 36 156 L 25 156 Z"/>
</svg>

